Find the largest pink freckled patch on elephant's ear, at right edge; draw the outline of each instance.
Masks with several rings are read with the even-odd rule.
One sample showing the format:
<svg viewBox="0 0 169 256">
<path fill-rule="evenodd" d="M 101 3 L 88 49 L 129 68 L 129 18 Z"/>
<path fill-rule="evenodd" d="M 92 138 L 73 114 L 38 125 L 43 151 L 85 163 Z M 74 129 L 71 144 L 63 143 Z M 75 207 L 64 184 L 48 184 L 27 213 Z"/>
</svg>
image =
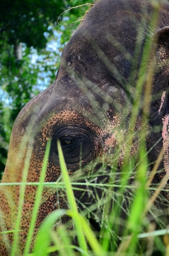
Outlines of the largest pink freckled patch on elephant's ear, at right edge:
<svg viewBox="0 0 169 256">
<path fill-rule="evenodd" d="M 163 152 L 164 152 L 164 169 L 166 173 L 169 172 L 169 136 L 168 136 L 168 128 L 167 125 L 169 124 L 169 114 L 162 118 L 163 123 L 163 130 L 162 130 L 162 137 L 163 137 Z"/>
</svg>

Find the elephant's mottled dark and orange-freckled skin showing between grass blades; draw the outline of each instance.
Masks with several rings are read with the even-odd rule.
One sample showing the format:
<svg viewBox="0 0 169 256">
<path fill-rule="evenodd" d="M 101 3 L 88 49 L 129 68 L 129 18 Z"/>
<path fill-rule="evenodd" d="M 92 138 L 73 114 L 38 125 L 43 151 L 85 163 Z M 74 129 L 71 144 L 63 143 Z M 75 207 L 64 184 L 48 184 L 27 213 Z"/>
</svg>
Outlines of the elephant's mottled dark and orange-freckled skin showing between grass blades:
<svg viewBox="0 0 169 256">
<path fill-rule="evenodd" d="M 165 5 L 165 6 L 164 6 Z M 100 0 L 92 7 L 69 43 L 63 50 L 61 64 L 55 82 L 32 99 L 19 113 L 12 130 L 8 161 L 3 175 L 3 183 L 21 182 L 26 154 L 30 159 L 28 182 L 39 180 L 46 142 L 52 139 L 46 182 L 54 182 L 60 176 L 57 139 L 63 146 L 63 154 L 69 174 L 79 168 L 80 143 L 82 145 L 82 166 L 95 160 L 101 153 L 118 154 L 118 170 L 123 164 L 127 143 L 126 132 L 132 111 L 132 98 L 145 38 L 148 33 L 149 18 L 153 7 L 142 0 Z M 138 31 L 143 29 L 143 38 Z M 154 30 L 155 75 L 152 85 L 152 103 L 149 114 L 149 150 L 163 134 L 149 153 L 149 161 L 154 162 L 160 149 L 164 147 L 164 160 L 153 182 L 159 183 L 169 170 L 168 154 L 168 86 L 169 86 L 169 4 L 162 3 L 158 23 Z M 157 39 L 158 38 L 158 39 Z M 158 43 L 157 43 L 158 40 Z M 134 65 L 135 76 L 131 74 L 131 62 L 135 45 L 140 46 Z M 166 93 L 164 93 L 166 91 Z M 142 93 L 143 96 L 143 93 Z M 137 115 L 135 130 L 142 122 L 142 100 Z M 158 129 L 156 129 L 158 126 Z M 67 147 L 65 139 L 71 140 Z M 139 139 L 135 140 L 129 156 L 137 158 Z M 106 158 L 105 158 L 106 161 Z M 107 160 L 108 161 L 108 160 Z M 96 166 L 95 169 L 98 169 Z M 107 176 L 97 179 L 106 179 Z M 105 180 L 106 181 L 106 180 Z M 36 186 L 26 186 L 23 216 L 17 255 L 23 253 L 34 205 Z M 54 188 L 45 188 L 38 213 L 35 233 L 43 219 L 54 209 L 67 208 L 66 198 L 60 190 L 57 197 Z M 91 201 L 87 194 L 75 191 L 76 198 L 83 204 Z M 99 192 L 98 192 L 99 193 Z M 16 222 L 19 186 L 6 186 L 0 191 L 0 207 L 3 212 L 1 230 L 12 230 Z M 167 194 L 163 197 L 168 199 Z M 162 207 L 162 206 L 161 206 Z M 123 215 L 123 213 L 122 213 Z M 63 223 L 67 221 L 63 218 Z M 9 243 L 0 236 L 0 255 L 9 255 L 12 235 L 7 234 Z M 32 243 L 32 246 L 34 242 Z"/>
</svg>

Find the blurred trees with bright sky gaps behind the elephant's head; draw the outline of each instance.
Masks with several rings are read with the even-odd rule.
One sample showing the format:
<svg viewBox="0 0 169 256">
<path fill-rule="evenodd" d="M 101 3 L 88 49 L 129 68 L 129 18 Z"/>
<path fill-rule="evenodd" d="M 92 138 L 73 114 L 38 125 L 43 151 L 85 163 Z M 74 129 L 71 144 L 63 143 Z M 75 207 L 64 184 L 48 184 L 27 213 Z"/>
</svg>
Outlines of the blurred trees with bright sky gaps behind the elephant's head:
<svg viewBox="0 0 169 256">
<path fill-rule="evenodd" d="M 55 79 L 63 47 L 93 0 L 2 0 L 0 8 L 0 174 L 23 106 Z M 60 15 L 64 12 L 62 15 Z M 59 17 L 60 15 L 60 17 Z M 60 25 L 57 23 L 59 17 Z"/>
</svg>

